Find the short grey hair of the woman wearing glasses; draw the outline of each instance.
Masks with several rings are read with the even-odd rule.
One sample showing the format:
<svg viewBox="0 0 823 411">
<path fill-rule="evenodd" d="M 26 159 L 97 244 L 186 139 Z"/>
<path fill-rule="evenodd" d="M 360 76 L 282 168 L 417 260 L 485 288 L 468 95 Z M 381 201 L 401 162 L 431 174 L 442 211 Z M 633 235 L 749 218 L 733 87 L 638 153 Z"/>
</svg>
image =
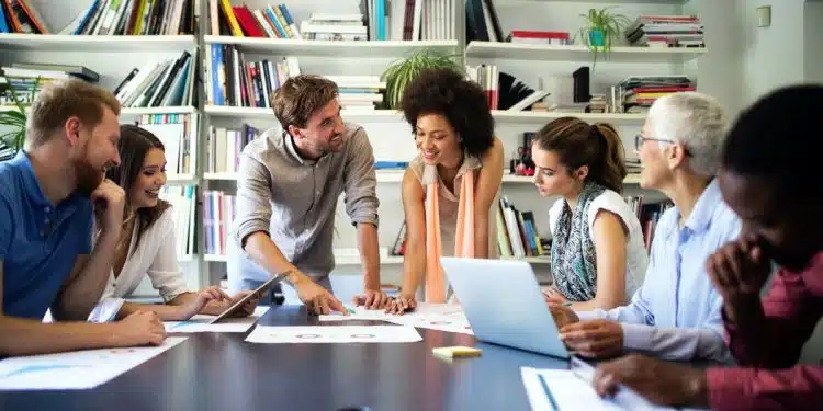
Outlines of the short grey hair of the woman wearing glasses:
<svg viewBox="0 0 823 411">
<path fill-rule="evenodd" d="M 657 99 L 649 109 L 654 138 L 672 139 L 686 147 L 695 173 L 713 176 L 720 168 L 729 117 L 714 98 L 694 91 Z"/>
</svg>

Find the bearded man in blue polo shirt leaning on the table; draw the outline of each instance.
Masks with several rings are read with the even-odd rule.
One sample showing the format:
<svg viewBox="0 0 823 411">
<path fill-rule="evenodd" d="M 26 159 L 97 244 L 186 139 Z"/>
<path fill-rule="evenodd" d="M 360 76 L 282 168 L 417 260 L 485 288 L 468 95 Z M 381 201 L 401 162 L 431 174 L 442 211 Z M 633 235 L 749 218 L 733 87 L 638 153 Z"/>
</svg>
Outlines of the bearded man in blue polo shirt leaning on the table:
<svg viewBox="0 0 823 411">
<path fill-rule="evenodd" d="M 120 163 L 119 114 L 106 90 L 50 82 L 32 105 L 24 150 L 0 163 L 0 356 L 165 339 L 151 312 L 80 322 L 105 287 L 122 233 L 125 195 L 104 179 Z M 57 321 L 43 323 L 49 308 Z"/>
</svg>

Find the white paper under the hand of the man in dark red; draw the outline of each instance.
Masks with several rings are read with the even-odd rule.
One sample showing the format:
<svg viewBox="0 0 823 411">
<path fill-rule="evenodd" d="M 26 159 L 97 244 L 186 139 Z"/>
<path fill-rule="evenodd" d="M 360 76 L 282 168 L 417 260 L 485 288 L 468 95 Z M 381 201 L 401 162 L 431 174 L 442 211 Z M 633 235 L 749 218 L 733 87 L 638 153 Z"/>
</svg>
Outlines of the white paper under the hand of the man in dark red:
<svg viewBox="0 0 823 411">
<path fill-rule="evenodd" d="M 576 369 L 520 367 L 532 411 L 673 410 L 655 406 L 629 389 L 620 389 L 613 398 L 601 398 L 591 386 L 594 369 L 587 364 L 573 367 Z"/>
</svg>

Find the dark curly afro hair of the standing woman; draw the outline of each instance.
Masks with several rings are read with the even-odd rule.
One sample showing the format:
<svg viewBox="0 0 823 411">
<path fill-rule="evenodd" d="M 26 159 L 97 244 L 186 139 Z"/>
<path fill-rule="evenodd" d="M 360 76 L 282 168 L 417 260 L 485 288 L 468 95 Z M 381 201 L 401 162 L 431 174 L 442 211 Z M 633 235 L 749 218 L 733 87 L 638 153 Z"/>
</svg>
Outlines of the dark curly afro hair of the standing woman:
<svg viewBox="0 0 823 411">
<path fill-rule="evenodd" d="M 454 69 L 424 69 L 403 92 L 403 115 L 414 133 L 417 118 L 440 114 L 462 137 L 463 149 L 480 157 L 494 146 L 494 118 L 480 84 Z"/>
</svg>

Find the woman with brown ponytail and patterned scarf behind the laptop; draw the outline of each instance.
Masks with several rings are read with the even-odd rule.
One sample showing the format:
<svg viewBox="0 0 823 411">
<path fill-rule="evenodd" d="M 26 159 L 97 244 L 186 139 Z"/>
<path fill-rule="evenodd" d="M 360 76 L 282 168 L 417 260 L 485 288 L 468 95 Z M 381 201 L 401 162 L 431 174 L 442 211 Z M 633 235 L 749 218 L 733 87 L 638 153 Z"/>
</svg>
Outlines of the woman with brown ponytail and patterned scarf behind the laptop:
<svg viewBox="0 0 823 411">
<path fill-rule="evenodd" d="M 537 134 L 534 185 L 561 196 L 549 212 L 550 302 L 575 311 L 622 306 L 643 281 L 649 256 L 640 221 L 621 196 L 623 145 L 608 124 L 557 118 Z"/>
</svg>

